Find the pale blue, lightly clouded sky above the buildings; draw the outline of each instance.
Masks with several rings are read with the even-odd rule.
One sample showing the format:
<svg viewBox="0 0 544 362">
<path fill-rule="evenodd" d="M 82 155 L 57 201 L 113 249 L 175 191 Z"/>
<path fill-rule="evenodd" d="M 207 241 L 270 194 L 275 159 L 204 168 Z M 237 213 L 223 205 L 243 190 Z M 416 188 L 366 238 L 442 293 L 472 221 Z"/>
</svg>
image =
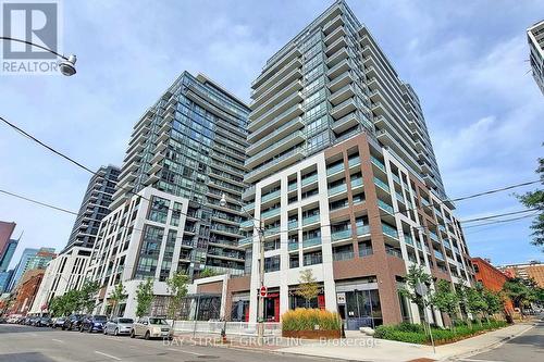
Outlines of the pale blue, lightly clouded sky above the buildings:
<svg viewBox="0 0 544 362">
<path fill-rule="evenodd" d="M 121 166 L 133 125 L 183 71 L 249 101 L 268 58 L 331 3 L 66 0 L 63 48 L 77 55 L 77 74 L 0 75 L 0 115 L 91 168 Z M 419 95 L 448 196 L 537 179 L 544 96 L 526 29 L 542 20 L 543 1 L 348 4 Z M 89 176 L 0 124 L 0 189 L 77 211 Z M 459 201 L 456 215 L 522 210 L 511 192 Z M 24 248 L 62 249 L 75 217 L 0 195 L 0 220 L 24 232 L 14 265 Z M 542 260 L 530 223 L 467 227 L 469 250 L 496 264 Z"/>
</svg>

